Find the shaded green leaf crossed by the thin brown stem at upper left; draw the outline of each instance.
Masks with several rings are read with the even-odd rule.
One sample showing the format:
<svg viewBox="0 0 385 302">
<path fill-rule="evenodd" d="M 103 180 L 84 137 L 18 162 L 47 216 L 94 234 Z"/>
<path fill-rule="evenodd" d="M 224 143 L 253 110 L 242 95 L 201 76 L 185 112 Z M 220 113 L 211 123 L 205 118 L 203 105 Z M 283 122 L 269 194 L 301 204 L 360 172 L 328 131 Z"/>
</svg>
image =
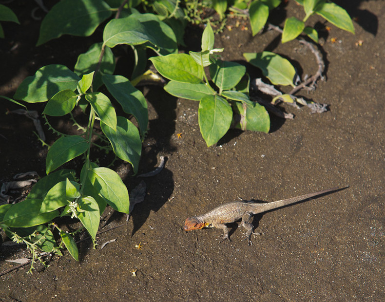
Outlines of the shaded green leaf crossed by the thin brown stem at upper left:
<svg viewBox="0 0 385 302">
<path fill-rule="evenodd" d="M 79 55 L 79 57 L 77 57 L 77 62 L 75 64 L 74 71 L 78 76 L 85 75 L 96 70 L 96 66 L 99 62 L 102 44 L 103 43 L 92 44 L 86 53 L 81 54 Z M 103 58 L 100 63 L 101 73 L 96 73 L 94 82 L 92 83 L 94 91 L 96 91 L 102 85 L 101 75 L 112 75 L 114 73 L 114 70 L 115 57 L 112 53 L 111 48 L 106 46 L 104 49 Z"/>
</svg>

